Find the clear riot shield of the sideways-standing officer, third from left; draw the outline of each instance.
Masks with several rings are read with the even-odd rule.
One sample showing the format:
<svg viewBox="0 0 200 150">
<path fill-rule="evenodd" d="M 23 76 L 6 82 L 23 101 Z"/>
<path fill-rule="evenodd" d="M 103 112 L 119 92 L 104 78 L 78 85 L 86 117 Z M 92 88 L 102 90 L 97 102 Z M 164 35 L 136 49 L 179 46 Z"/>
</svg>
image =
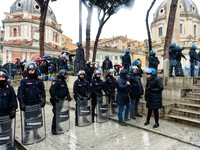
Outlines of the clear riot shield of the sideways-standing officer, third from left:
<svg viewBox="0 0 200 150">
<path fill-rule="evenodd" d="M 69 128 L 69 102 L 61 100 L 60 102 L 56 102 L 56 133 L 65 133 Z"/>
</svg>

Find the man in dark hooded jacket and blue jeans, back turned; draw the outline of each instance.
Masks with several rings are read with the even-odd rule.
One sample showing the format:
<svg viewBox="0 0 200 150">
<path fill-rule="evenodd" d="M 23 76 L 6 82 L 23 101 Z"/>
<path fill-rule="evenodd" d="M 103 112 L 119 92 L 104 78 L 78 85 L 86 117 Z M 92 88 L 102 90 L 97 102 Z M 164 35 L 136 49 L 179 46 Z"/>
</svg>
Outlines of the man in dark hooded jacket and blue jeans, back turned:
<svg viewBox="0 0 200 150">
<path fill-rule="evenodd" d="M 119 105 L 118 118 L 119 118 L 119 124 L 122 126 L 127 126 L 125 121 L 130 120 L 128 118 L 130 110 L 128 88 L 130 88 L 130 82 L 128 81 L 127 76 L 128 76 L 128 70 L 122 69 L 120 72 L 120 77 L 117 80 L 117 104 Z M 122 114 L 125 106 L 126 106 L 125 118 L 123 120 Z"/>
</svg>

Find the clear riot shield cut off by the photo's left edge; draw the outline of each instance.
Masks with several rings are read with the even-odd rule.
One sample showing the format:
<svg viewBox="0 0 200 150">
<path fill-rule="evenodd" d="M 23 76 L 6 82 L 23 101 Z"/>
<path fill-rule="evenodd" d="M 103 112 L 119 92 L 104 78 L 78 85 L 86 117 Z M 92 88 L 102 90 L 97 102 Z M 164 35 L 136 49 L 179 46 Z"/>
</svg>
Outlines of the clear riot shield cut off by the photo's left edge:
<svg viewBox="0 0 200 150">
<path fill-rule="evenodd" d="M 15 119 L 11 120 L 10 116 L 0 117 L 0 149 L 12 150 L 14 149 L 14 132 Z"/>
</svg>

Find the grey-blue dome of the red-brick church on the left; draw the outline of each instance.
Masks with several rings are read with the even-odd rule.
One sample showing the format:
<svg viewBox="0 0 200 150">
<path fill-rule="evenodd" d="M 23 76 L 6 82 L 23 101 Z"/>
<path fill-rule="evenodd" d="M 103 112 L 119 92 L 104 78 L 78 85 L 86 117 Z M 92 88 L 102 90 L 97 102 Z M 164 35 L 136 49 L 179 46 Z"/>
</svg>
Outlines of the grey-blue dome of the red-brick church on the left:
<svg viewBox="0 0 200 150">
<path fill-rule="evenodd" d="M 35 0 L 16 0 L 10 8 L 10 13 L 26 11 L 29 13 L 40 14 L 40 6 Z M 49 7 L 47 11 L 47 16 L 51 17 L 52 20 L 56 21 L 56 16 L 53 10 Z"/>
</svg>

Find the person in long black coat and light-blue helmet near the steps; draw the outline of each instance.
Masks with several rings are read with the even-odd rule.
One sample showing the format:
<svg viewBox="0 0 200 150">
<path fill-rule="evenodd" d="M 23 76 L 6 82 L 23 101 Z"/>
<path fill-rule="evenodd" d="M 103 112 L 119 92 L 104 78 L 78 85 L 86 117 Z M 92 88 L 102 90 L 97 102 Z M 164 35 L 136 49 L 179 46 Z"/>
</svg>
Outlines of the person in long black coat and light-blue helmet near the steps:
<svg viewBox="0 0 200 150">
<path fill-rule="evenodd" d="M 158 109 L 162 108 L 162 91 L 163 84 L 161 80 L 156 76 L 157 72 L 154 68 L 149 68 L 146 71 L 147 74 L 147 84 L 145 90 L 145 101 L 146 107 L 148 108 L 147 120 L 144 125 L 148 125 L 152 111 L 154 111 L 155 124 L 153 128 L 159 126 L 159 114 Z"/>
</svg>

